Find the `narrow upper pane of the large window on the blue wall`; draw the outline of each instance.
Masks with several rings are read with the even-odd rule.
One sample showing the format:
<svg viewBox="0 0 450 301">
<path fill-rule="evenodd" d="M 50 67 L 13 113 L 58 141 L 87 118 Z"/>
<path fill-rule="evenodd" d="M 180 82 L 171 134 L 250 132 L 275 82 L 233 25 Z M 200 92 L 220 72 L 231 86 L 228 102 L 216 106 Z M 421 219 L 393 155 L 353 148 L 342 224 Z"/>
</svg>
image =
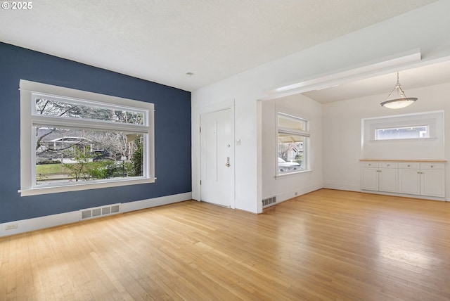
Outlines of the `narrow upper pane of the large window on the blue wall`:
<svg viewBox="0 0 450 301">
<path fill-rule="evenodd" d="M 91 105 L 77 101 L 65 101 L 36 97 L 36 115 L 58 116 L 85 120 L 101 120 L 130 124 L 144 124 L 144 114 L 139 110 L 122 110 Z"/>
</svg>

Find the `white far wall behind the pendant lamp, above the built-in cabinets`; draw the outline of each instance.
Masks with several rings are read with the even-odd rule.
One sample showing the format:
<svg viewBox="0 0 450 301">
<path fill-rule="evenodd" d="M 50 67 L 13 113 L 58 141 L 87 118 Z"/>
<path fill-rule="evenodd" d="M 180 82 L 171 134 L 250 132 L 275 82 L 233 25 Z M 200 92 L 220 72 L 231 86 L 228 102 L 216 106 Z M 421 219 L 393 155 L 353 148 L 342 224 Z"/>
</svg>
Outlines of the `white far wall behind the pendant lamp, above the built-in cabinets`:
<svg viewBox="0 0 450 301">
<path fill-rule="evenodd" d="M 361 149 L 361 118 L 382 117 L 389 115 L 422 113 L 444 110 L 444 146 L 428 155 L 411 149 L 399 152 L 392 143 L 392 159 L 446 159 L 450 160 L 450 100 L 448 96 L 450 83 L 430 87 L 409 89 L 408 95 L 418 98 L 409 107 L 390 110 L 380 106 L 385 94 L 354 98 L 323 105 L 323 186 L 326 188 L 360 191 L 360 164 L 363 158 Z M 387 92 L 388 93 L 388 92 Z M 416 142 L 417 148 L 424 148 L 423 143 Z M 434 141 L 432 141 L 434 143 Z M 442 154 L 444 158 L 442 158 Z M 420 158 L 417 158 L 417 156 Z M 439 157 L 439 158 L 436 158 Z M 387 158 L 380 153 L 379 158 Z M 446 178 L 450 179 L 450 168 L 446 169 Z M 450 185 L 446 185 L 446 196 L 450 196 Z"/>
</svg>

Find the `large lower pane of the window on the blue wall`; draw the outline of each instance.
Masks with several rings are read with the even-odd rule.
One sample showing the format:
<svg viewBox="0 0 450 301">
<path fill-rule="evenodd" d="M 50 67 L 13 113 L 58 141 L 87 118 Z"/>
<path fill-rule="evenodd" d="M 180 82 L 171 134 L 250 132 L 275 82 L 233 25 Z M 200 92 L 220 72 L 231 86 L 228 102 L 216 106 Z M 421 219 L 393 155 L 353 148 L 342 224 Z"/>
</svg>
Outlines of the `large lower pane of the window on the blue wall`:
<svg viewBox="0 0 450 301">
<path fill-rule="evenodd" d="M 143 176 L 142 134 L 34 127 L 36 186 Z"/>
</svg>

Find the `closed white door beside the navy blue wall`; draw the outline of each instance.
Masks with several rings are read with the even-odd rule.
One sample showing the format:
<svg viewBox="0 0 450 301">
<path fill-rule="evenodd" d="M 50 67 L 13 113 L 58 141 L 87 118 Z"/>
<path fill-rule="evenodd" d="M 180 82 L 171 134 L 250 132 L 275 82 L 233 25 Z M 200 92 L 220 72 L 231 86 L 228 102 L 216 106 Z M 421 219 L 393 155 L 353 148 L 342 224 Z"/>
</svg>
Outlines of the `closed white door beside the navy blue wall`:
<svg viewBox="0 0 450 301">
<path fill-rule="evenodd" d="M 232 143 L 231 109 L 200 115 L 200 200 L 231 207 Z"/>
</svg>

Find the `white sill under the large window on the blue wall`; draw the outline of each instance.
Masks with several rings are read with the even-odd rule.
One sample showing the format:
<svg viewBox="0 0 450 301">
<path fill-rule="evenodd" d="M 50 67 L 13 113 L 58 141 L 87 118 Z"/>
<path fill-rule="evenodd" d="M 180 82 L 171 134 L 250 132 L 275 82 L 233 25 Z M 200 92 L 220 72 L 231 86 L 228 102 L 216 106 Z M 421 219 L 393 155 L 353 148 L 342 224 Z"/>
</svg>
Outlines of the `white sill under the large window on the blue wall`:
<svg viewBox="0 0 450 301">
<path fill-rule="evenodd" d="M 80 184 L 70 184 L 61 186 L 51 186 L 51 187 L 36 187 L 36 188 L 24 188 L 20 189 L 18 193 L 20 196 L 39 196 L 41 194 L 47 193 L 62 193 L 69 191 L 83 191 L 87 189 L 98 189 L 98 188 L 108 188 L 117 186 L 127 186 L 136 184 L 148 184 L 154 183 L 156 178 L 146 178 L 146 179 L 121 179 L 118 181 L 108 181 L 108 182 L 95 182 L 95 183 L 80 183 Z"/>
</svg>

